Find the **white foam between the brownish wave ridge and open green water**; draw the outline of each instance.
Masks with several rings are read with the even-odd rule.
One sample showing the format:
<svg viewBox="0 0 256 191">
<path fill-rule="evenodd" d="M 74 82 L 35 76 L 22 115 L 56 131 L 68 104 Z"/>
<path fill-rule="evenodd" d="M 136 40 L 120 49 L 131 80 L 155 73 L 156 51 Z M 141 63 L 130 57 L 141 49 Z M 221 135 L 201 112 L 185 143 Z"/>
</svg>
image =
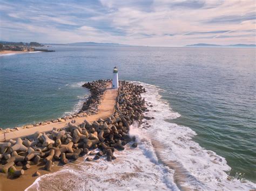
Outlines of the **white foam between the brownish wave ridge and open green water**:
<svg viewBox="0 0 256 191">
<path fill-rule="evenodd" d="M 161 100 L 158 94 L 161 89 L 145 83 L 139 84 L 147 90 L 143 97 L 153 105 L 153 108 L 149 107 L 148 116 L 155 118 L 145 121 L 151 126 L 143 129 L 143 134 L 150 137 L 158 159 L 176 171 L 174 180 L 177 179 L 176 183 L 180 183 L 177 186 L 188 189 L 255 188 L 255 184 L 250 181 L 242 183 L 237 179 L 227 180 L 226 172 L 230 171 L 231 167 L 227 165 L 226 159 L 194 142 L 192 137 L 196 132 L 190 128 L 166 121 L 180 115 L 173 112 L 167 102 Z M 185 182 L 180 181 L 181 178 L 185 179 Z"/>
</svg>

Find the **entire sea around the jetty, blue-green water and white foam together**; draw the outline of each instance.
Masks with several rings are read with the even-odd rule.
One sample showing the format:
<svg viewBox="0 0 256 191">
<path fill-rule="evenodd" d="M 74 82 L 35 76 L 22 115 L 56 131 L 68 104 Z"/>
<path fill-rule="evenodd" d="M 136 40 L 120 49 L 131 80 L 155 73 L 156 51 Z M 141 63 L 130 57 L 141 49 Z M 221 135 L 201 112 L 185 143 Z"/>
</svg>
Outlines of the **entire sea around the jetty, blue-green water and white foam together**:
<svg viewBox="0 0 256 191">
<path fill-rule="evenodd" d="M 114 66 L 120 80 L 146 87 L 143 96 L 153 105 L 147 115 L 156 119 L 145 122 L 149 128 L 132 126 L 139 146 L 127 145 L 116 161 L 70 164 L 38 178 L 30 188 L 255 187 L 255 49 L 52 49 L 56 52 L 0 56 L 0 127 L 75 112 L 89 95 L 80 85 L 111 78 Z M 48 179 L 60 183 L 44 185 L 42 180 Z"/>
</svg>

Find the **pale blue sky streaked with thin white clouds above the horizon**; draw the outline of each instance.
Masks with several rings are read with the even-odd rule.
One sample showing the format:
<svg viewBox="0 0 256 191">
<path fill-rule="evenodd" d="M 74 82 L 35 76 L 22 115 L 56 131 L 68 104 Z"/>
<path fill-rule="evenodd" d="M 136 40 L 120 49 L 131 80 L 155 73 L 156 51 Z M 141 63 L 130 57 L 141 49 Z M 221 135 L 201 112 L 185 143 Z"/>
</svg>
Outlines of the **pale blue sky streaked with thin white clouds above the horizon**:
<svg viewBox="0 0 256 191">
<path fill-rule="evenodd" d="M 0 40 L 256 44 L 255 0 L 0 0 Z"/>
</svg>

